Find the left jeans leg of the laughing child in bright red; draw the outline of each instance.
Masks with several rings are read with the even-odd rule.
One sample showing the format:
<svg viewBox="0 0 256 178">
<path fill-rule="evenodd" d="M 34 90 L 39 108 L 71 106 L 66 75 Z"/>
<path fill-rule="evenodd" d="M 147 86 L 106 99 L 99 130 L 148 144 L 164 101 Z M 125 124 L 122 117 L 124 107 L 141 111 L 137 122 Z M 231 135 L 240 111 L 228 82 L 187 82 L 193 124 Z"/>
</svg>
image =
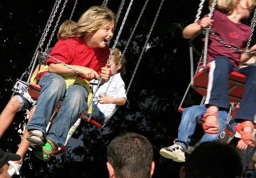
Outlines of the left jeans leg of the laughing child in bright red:
<svg viewBox="0 0 256 178">
<path fill-rule="evenodd" d="M 40 130 L 46 135 L 46 127 L 52 116 L 54 108 L 57 106 L 66 92 L 66 82 L 64 78 L 56 73 L 45 73 L 38 83 L 41 86 L 36 110 L 26 129 Z"/>
</svg>

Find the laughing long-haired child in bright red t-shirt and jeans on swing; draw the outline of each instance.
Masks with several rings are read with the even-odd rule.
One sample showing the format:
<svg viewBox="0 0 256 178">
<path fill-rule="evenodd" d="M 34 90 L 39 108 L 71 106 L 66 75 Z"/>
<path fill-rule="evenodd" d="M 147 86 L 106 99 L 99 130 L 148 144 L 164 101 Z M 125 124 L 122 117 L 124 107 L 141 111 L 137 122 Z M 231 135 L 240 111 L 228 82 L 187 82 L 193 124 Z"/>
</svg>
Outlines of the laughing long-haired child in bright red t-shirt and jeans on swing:
<svg viewBox="0 0 256 178">
<path fill-rule="evenodd" d="M 48 56 L 48 70 L 45 68 L 46 73 L 39 76 L 41 91 L 37 107 L 26 126 L 29 132 L 26 139 L 39 146 L 47 144 L 48 149 L 42 150 L 47 155 L 65 144 L 69 129 L 85 110 L 90 109 L 87 104 L 92 97 L 90 80 L 102 78 L 105 82 L 109 81 L 110 65 L 107 61 L 110 51 L 107 44 L 115 28 L 114 12 L 92 6 L 82 14 L 71 32 L 54 45 Z M 64 97 L 46 132 L 52 116 L 52 112 L 48 111 L 53 111 Z M 48 160 L 48 157 L 40 158 Z"/>
</svg>

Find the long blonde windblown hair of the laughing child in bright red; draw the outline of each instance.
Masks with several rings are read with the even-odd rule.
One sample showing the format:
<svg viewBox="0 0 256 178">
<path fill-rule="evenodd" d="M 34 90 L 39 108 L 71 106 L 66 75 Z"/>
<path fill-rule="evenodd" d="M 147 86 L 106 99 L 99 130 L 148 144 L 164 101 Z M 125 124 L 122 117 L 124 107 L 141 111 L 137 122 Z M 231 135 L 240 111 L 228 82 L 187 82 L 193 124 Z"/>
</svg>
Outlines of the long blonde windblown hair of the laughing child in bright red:
<svg viewBox="0 0 256 178">
<path fill-rule="evenodd" d="M 116 29 L 116 14 L 109 8 L 92 6 L 78 20 L 76 26 L 64 38 L 78 38 L 88 36 L 104 26 L 114 25 Z"/>
</svg>

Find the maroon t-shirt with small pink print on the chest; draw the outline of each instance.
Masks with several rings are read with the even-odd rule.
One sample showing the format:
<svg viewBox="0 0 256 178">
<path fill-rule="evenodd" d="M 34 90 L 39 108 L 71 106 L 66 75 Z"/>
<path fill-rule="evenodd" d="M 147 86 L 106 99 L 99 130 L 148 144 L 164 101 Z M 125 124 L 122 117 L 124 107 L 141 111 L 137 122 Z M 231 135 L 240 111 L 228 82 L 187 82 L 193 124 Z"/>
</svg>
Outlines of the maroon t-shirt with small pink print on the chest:
<svg viewBox="0 0 256 178">
<path fill-rule="evenodd" d="M 208 17 L 208 14 L 206 14 L 205 17 Z M 249 26 L 232 22 L 225 14 L 218 10 L 214 10 L 212 19 L 214 19 L 214 22 L 211 29 L 223 42 L 238 49 L 244 49 L 247 46 L 251 32 Z M 201 20 L 202 19 L 198 20 L 198 24 L 200 24 Z M 233 68 L 238 68 L 241 53 L 229 47 L 225 47 L 224 44 L 218 42 L 218 40 L 210 34 L 206 63 L 209 63 L 219 56 L 228 57 L 233 64 Z M 200 67 L 202 67 L 202 62 Z"/>
</svg>

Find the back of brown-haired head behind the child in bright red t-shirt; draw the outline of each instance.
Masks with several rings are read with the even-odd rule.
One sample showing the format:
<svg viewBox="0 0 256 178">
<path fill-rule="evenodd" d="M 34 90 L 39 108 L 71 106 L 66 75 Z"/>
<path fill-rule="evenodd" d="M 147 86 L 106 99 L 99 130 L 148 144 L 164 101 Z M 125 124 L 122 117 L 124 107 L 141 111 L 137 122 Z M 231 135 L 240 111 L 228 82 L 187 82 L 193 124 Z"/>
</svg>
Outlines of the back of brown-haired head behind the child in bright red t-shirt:
<svg viewBox="0 0 256 178">
<path fill-rule="evenodd" d="M 59 32 L 57 33 L 58 40 L 65 40 L 66 36 L 70 34 L 72 29 L 76 26 L 76 22 L 73 20 L 65 20 L 59 28 Z"/>
</svg>

